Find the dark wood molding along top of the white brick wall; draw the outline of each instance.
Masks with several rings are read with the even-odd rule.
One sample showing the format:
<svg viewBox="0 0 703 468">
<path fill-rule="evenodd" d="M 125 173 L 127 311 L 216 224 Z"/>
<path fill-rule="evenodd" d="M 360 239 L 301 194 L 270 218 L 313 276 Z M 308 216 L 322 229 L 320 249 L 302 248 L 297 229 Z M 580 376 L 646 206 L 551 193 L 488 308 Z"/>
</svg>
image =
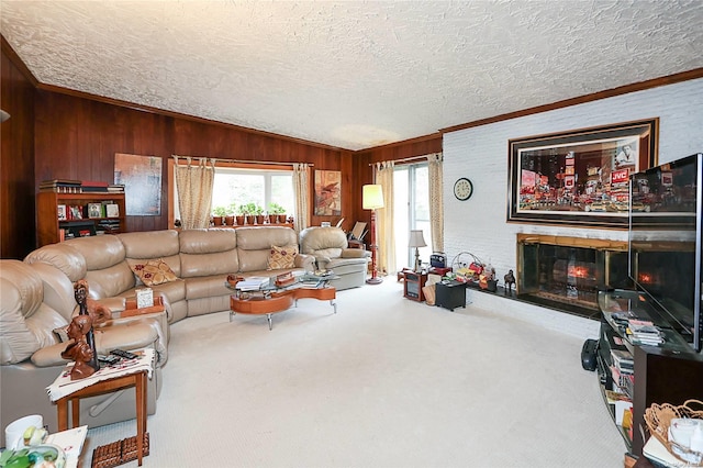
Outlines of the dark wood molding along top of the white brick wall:
<svg viewBox="0 0 703 468">
<path fill-rule="evenodd" d="M 565 99 L 563 101 L 553 102 L 550 104 L 537 105 L 535 108 L 523 109 L 521 111 L 509 112 L 506 114 L 495 115 L 488 119 L 476 120 L 460 125 L 440 129 L 442 134 L 456 132 L 458 130 L 471 129 L 475 126 L 488 125 L 489 123 L 502 122 L 506 120 L 517 119 L 526 115 L 538 114 L 542 112 L 554 111 L 556 109 L 569 108 L 571 105 L 583 104 L 585 102 L 599 101 L 601 99 L 613 98 L 615 96 L 628 94 L 635 91 L 658 88 L 660 86 L 673 85 L 677 82 L 689 81 L 692 79 L 703 78 L 703 68 L 695 68 L 680 74 L 669 75 L 666 77 L 654 78 L 646 81 L 635 82 L 621 86 L 617 88 L 606 89 L 604 91 L 593 92 L 591 94 L 579 96 L 578 98 Z"/>
</svg>

